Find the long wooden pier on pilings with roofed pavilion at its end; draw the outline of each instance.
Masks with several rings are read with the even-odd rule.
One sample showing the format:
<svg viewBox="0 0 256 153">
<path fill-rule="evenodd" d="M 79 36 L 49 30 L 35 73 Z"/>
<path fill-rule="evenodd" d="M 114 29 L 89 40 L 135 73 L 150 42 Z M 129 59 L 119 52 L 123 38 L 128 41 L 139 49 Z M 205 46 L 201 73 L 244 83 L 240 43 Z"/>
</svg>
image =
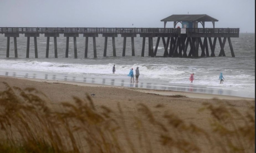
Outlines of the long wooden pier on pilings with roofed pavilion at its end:
<svg viewBox="0 0 256 153">
<path fill-rule="evenodd" d="M 148 56 L 155 57 L 157 56 L 157 49 L 159 46 L 160 39 L 164 44 L 164 55 L 163 57 L 215 57 L 215 46 L 218 39 L 220 43 L 220 53 L 218 56 L 225 55 L 225 43 L 228 39 L 228 44 L 230 46 L 230 51 L 232 57 L 235 57 L 235 53 L 231 43 L 231 37 L 239 37 L 239 28 L 215 28 L 215 22 L 218 21 L 215 18 L 212 18 L 208 15 L 172 15 L 161 20 L 164 22 L 164 28 L 32 28 L 32 27 L 0 27 L 0 34 L 4 34 L 7 37 L 7 50 L 6 57 L 9 57 L 10 52 L 10 37 L 13 37 L 14 40 L 14 52 L 15 57 L 18 57 L 17 50 L 17 37 L 20 34 L 25 34 L 27 37 L 27 47 L 26 47 L 26 58 L 29 58 L 30 50 L 30 37 L 34 37 L 35 43 L 35 58 L 38 58 L 37 51 L 37 37 L 40 34 L 44 34 L 47 37 L 46 41 L 46 55 L 49 57 L 49 42 L 50 37 L 54 39 L 54 53 L 55 58 L 58 58 L 57 50 L 57 37 L 59 34 L 64 34 L 66 37 L 66 53 L 65 57 L 68 58 L 68 48 L 69 48 L 69 37 L 73 37 L 74 40 L 74 58 L 77 56 L 77 47 L 76 47 L 76 37 L 79 37 L 79 34 L 83 34 L 85 39 L 85 50 L 84 58 L 88 57 L 88 39 L 92 37 L 93 40 L 93 52 L 94 58 L 97 57 L 96 50 L 96 37 L 99 37 L 99 34 L 102 34 L 102 37 L 105 37 L 104 41 L 104 50 L 103 56 L 106 57 L 107 53 L 107 39 L 108 37 L 112 38 L 113 46 L 113 56 L 116 56 L 116 46 L 115 46 L 115 37 L 118 34 L 121 34 L 123 37 L 123 50 L 122 56 L 126 55 L 126 39 L 127 37 L 131 38 L 132 45 L 132 56 L 135 56 L 134 49 L 134 37 L 142 37 L 142 50 L 141 56 L 145 55 L 145 40 L 149 40 L 149 50 Z M 173 28 L 166 28 L 166 23 L 168 21 L 173 21 Z M 205 28 L 205 22 L 212 22 L 213 28 Z M 182 24 L 182 28 L 177 27 L 177 23 Z M 198 23 L 202 24 L 203 28 L 197 28 Z M 157 42 L 155 42 L 155 49 L 153 48 L 154 42 L 153 37 L 157 37 Z M 202 39 L 203 38 L 203 39 Z M 213 39 L 213 40 L 212 40 Z M 208 43 L 210 44 L 209 52 Z M 187 54 L 188 46 L 190 50 Z M 199 55 L 199 47 L 201 48 L 201 55 Z M 169 50 L 168 50 L 169 48 Z"/>
</svg>

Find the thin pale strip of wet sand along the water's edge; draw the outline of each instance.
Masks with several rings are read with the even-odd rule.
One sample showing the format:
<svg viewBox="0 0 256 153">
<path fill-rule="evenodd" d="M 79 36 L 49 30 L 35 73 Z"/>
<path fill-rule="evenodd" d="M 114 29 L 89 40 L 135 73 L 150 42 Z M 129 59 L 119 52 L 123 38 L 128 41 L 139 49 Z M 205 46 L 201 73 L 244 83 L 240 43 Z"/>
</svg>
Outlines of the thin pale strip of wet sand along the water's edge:
<svg viewBox="0 0 256 153">
<path fill-rule="evenodd" d="M 146 89 L 146 88 L 133 88 L 126 86 L 113 86 L 113 85 L 102 85 L 97 83 L 84 83 L 78 81 L 62 81 L 62 80 L 48 80 L 48 79 L 37 79 L 37 78 L 20 78 L 20 77 L 10 77 L 10 76 L 1 76 L 0 78 L 14 78 L 20 80 L 29 80 L 29 81 L 37 81 L 37 82 L 46 82 L 46 83 L 62 83 L 67 85 L 78 85 L 78 86 L 91 86 L 91 87 L 109 87 L 109 88 L 121 88 L 128 89 L 132 91 L 137 91 L 141 93 L 149 93 L 149 94 L 157 94 L 164 96 L 172 96 L 172 95 L 184 95 L 188 98 L 201 98 L 201 99 L 229 99 L 229 100 L 254 100 L 255 98 L 246 98 L 239 96 L 229 96 L 229 95 L 219 95 L 219 94 L 207 94 L 207 93 L 195 93 L 195 92 L 186 92 L 186 91 L 172 91 L 172 90 L 157 90 L 157 89 Z M 1 79 L 2 80 L 2 79 Z"/>
</svg>

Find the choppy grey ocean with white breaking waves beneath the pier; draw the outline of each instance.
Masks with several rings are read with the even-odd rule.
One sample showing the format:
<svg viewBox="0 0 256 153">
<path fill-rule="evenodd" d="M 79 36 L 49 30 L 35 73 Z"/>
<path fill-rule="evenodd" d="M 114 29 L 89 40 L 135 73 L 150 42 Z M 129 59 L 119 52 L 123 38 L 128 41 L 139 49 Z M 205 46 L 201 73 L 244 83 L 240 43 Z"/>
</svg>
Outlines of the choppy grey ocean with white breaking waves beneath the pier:
<svg viewBox="0 0 256 153">
<path fill-rule="evenodd" d="M 30 58 L 26 59 L 26 37 L 17 37 L 18 58 L 14 58 L 13 39 L 10 39 L 10 57 L 6 58 L 7 37 L 0 34 L 0 75 L 12 77 L 39 78 L 51 80 L 82 81 L 116 86 L 140 87 L 159 90 L 176 90 L 210 94 L 255 98 L 255 34 L 240 33 L 231 38 L 236 57 L 231 57 L 228 41 L 225 44 L 226 57 L 218 57 L 220 44 L 217 40 L 216 57 L 169 58 L 164 54 L 162 41 L 157 57 L 148 56 L 148 39 L 145 43 L 145 57 L 141 57 L 142 37 L 134 37 L 135 56 L 132 56 L 131 40 L 127 37 L 126 56 L 122 57 L 123 38 L 116 37 L 116 55 L 112 57 L 112 39 L 107 41 L 107 57 L 103 57 L 104 37 L 96 37 L 97 58 L 93 58 L 92 38 L 89 37 L 88 58 L 84 58 L 85 37 L 77 40 L 78 59 L 74 59 L 73 37 L 69 38 L 69 58 L 65 58 L 66 37 L 57 37 L 58 59 L 54 58 L 53 38 L 50 38 L 49 58 L 46 54 L 46 37 L 37 38 L 38 59 L 35 59 L 34 41 L 30 39 Z M 165 38 L 166 39 L 166 38 Z M 203 38 L 202 38 L 203 39 Z M 153 38 L 154 47 L 157 38 Z M 211 54 L 208 43 L 209 54 Z M 189 52 L 189 47 L 188 47 Z M 188 53 L 187 52 L 187 53 Z M 201 50 L 199 49 L 199 55 Z M 116 73 L 112 67 L 116 65 Z M 139 83 L 130 83 L 127 77 L 131 68 L 139 67 Z M 224 83 L 218 80 L 220 72 Z M 195 80 L 189 77 L 195 73 Z M 134 78 L 135 79 L 135 78 Z"/>
</svg>

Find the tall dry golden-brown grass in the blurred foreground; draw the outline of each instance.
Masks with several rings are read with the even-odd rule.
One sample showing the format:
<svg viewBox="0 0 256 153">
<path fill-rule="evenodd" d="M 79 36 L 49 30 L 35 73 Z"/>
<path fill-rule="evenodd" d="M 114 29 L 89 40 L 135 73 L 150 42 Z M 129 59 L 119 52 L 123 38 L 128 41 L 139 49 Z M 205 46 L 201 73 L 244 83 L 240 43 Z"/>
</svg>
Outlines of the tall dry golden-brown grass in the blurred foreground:
<svg viewBox="0 0 256 153">
<path fill-rule="evenodd" d="M 211 114 L 212 131 L 186 123 L 169 111 L 162 118 L 145 104 L 138 116 L 105 106 L 91 97 L 52 106 L 35 88 L 21 90 L 4 83 L 0 92 L 0 152 L 13 153 L 253 153 L 255 106 L 245 113 L 215 99 L 200 111 Z M 161 110 L 161 105 L 155 106 Z M 127 118 L 132 118 L 129 122 Z"/>
</svg>

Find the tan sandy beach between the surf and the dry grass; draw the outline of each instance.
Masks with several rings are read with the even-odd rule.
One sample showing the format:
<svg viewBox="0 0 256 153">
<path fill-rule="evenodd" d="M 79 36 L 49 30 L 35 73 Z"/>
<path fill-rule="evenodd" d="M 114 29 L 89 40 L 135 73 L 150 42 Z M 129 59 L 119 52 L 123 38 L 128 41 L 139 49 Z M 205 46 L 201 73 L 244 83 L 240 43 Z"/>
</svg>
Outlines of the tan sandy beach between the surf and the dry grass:
<svg viewBox="0 0 256 153">
<path fill-rule="evenodd" d="M 207 132 L 211 131 L 208 119 L 210 114 L 208 112 L 198 113 L 203 103 L 211 103 L 215 105 L 216 99 L 221 102 L 229 102 L 236 109 L 245 112 L 248 104 L 254 106 L 254 98 L 242 98 L 235 96 L 188 93 L 178 91 L 162 91 L 162 90 L 146 90 L 139 88 L 125 88 L 113 87 L 108 85 L 98 85 L 90 83 L 79 83 L 72 81 L 56 81 L 56 80 L 40 80 L 33 78 L 13 78 L 0 77 L 0 91 L 4 91 L 5 85 L 16 86 L 21 89 L 36 88 L 37 90 L 46 94 L 53 104 L 53 109 L 58 108 L 61 101 L 73 101 L 73 96 L 85 99 L 86 95 L 95 94 L 91 96 L 95 107 L 106 106 L 114 112 L 118 112 L 117 104 L 120 104 L 127 123 L 131 123 L 129 118 L 132 115 L 139 116 L 137 110 L 138 104 L 145 104 L 152 112 L 154 112 L 155 119 L 163 120 L 163 112 L 168 111 L 176 114 L 180 119 L 187 123 L 193 123 L 198 127 L 205 129 Z M 173 98 L 172 95 L 184 95 L 186 97 Z M 214 99 L 213 99 L 214 98 Z M 162 105 L 160 109 L 157 105 Z M 129 126 L 132 125 L 128 125 Z M 136 134 L 132 132 L 134 137 Z M 156 147 L 157 148 L 157 147 Z M 154 149 L 153 149 L 154 150 Z"/>
</svg>

